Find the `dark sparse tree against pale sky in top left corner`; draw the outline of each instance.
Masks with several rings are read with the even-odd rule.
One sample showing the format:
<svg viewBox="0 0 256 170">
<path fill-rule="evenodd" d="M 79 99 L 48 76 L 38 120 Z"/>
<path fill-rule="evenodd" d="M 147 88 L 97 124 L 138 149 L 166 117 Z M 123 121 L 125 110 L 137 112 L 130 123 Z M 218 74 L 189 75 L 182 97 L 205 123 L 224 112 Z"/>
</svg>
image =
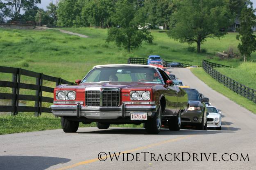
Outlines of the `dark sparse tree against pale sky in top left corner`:
<svg viewBox="0 0 256 170">
<path fill-rule="evenodd" d="M 9 9 L 9 14 L 13 20 L 19 20 L 21 15 L 20 11 L 33 8 L 36 4 L 40 4 L 41 0 L 5 0 L 5 6 Z"/>
</svg>

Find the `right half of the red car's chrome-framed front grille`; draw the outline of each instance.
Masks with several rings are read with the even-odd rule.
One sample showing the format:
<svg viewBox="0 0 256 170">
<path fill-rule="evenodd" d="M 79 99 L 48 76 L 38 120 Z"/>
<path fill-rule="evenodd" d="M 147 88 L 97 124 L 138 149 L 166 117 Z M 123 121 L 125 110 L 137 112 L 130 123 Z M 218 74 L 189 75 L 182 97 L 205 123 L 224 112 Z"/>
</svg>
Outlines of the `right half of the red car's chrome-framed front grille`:
<svg viewBox="0 0 256 170">
<path fill-rule="evenodd" d="M 102 91 L 102 107 L 118 107 L 119 91 Z"/>
</svg>

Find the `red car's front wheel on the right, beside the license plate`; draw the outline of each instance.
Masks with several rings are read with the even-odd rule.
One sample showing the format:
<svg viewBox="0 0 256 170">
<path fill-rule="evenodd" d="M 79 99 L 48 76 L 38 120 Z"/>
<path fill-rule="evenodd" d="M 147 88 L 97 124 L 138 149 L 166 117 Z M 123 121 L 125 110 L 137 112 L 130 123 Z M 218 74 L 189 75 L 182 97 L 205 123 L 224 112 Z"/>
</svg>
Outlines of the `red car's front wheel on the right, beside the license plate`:
<svg viewBox="0 0 256 170">
<path fill-rule="evenodd" d="M 161 120 L 162 120 L 162 112 L 161 112 L 161 105 L 159 105 L 159 108 L 155 113 L 154 117 L 145 121 L 146 132 L 149 134 L 159 133 L 161 130 Z"/>
</svg>

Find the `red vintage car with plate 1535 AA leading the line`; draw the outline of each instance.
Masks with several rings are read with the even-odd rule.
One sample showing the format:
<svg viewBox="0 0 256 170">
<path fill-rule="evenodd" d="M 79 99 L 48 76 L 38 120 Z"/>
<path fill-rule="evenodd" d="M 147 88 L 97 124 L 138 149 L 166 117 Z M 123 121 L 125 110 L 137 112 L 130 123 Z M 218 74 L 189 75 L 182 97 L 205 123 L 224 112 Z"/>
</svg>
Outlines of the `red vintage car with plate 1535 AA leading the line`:
<svg viewBox="0 0 256 170">
<path fill-rule="evenodd" d="M 100 129 L 145 123 L 151 134 L 159 133 L 161 122 L 168 122 L 170 130 L 179 130 L 181 114 L 187 110 L 186 92 L 156 66 L 94 66 L 76 83 L 54 88 L 51 109 L 61 117 L 64 132 L 76 132 L 79 122 L 96 122 Z"/>
</svg>

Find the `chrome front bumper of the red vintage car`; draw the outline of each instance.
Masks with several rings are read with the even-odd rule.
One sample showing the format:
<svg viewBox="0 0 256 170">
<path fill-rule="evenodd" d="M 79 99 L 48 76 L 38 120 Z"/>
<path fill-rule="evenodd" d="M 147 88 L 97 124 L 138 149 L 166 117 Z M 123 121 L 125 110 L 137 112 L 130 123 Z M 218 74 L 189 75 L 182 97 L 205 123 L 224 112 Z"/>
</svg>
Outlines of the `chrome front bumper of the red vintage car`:
<svg viewBox="0 0 256 170">
<path fill-rule="evenodd" d="M 74 105 L 52 105 L 50 106 L 55 116 L 75 116 L 86 117 L 88 119 L 118 119 L 130 117 L 131 112 L 144 112 L 148 117 L 154 116 L 158 109 L 156 105 L 152 106 L 131 106 L 122 104 L 120 107 L 85 107 Z"/>
</svg>

